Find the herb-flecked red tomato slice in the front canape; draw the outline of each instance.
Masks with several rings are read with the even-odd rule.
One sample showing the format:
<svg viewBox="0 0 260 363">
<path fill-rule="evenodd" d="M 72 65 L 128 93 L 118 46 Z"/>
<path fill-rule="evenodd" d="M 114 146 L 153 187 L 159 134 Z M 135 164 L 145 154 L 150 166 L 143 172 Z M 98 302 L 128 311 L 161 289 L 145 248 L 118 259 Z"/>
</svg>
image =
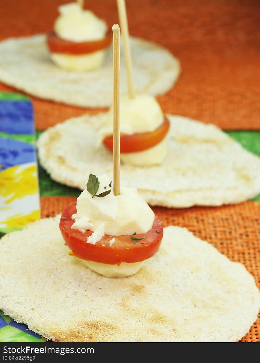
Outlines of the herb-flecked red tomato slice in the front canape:
<svg viewBox="0 0 260 363">
<path fill-rule="evenodd" d="M 71 216 L 77 212 L 76 203 L 70 204 L 64 209 L 59 228 L 66 242 L 66 245 L 73 251 L 75 256 L 82 260 L 101 262 L 103 264 L 120 265 L 121 262 L 144 261 L 152 257 L 159 249 L 163 236 L 162 222 L 155 216 L 153 227 L 144 234 L 135 234 L 135 238 L 144 238 L 137 242 L 131 240 L 131 236 L 105 236 L 96 244 L 87 243 L 88 236 L 92 231 L 80 232 L 78 229 L 71 229 L 74 220 Z M 157 232 L 159 231 L 159 232 Z M 110 240 L 115 237 L 112 246 Z"/>
</svg>

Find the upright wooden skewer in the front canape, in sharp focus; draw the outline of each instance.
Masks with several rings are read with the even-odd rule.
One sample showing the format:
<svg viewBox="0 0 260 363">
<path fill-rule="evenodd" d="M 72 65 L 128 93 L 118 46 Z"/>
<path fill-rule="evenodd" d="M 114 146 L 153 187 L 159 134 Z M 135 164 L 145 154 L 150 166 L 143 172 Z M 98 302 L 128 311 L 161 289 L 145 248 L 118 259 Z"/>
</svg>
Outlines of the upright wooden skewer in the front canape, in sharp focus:
<svg viewBox="0 0 260 363">
<path fill-rule="evenodd" d="M 119 77 L 120 77 L 120 28 L 112 26 L 113 31 L 113 163 L 114 195 L 120 194 L 120 134 L 119 134 Z"/>
</svg>

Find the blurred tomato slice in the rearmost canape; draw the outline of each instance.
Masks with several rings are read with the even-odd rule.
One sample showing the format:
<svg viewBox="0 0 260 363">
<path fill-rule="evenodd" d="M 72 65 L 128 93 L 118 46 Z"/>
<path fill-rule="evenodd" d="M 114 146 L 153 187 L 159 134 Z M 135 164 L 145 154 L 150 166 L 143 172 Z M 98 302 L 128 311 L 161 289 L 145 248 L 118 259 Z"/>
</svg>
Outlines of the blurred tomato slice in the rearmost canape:
<svg viewBox="0 0 260 363">
<path fill-rule="evenodd" d="M 101 40 L 73 42 L 60 38 L 55 32 L 47 34 L 47 44 L 52 53 L 86 54 L 105 49 L 110 46 L 111 33 L 107 32 Z"/>
</svg>

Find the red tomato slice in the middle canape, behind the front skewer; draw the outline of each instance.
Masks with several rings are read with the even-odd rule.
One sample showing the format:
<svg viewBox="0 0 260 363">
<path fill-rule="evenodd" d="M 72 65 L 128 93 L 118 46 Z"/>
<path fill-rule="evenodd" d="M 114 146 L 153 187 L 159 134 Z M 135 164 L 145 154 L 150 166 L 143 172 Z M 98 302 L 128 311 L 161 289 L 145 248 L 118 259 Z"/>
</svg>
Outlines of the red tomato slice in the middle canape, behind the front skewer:
<svg viewBox="0 0 260 363">
<path fill-rule="evenodd" d="M 154 131 L 140 132 L 133 135 L 120 135 L 121 152 L 137 152 L 149 149 L 164 139 L 170 127 L 169 120 L 165 117 L 164 122 Z M 113 135 L 103 140 L 104 146 L 113 151 Z"/>
</svg>

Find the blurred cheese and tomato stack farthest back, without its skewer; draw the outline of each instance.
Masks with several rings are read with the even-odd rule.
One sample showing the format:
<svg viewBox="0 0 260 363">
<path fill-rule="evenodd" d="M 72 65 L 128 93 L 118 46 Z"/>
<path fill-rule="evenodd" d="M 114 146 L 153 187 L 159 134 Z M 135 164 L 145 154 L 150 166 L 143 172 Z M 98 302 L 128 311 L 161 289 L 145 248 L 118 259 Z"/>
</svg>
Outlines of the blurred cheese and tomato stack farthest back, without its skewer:
<svg viewBox="0 0 260 363">
<path fill-rule="evenodd" d="M 78 3 L 62 5 L 48 34 L 50 58 L 67 70 L 90 71 L 99 68 L 110 46 L 111 34 L 106 23 Z"/>
</svg>

